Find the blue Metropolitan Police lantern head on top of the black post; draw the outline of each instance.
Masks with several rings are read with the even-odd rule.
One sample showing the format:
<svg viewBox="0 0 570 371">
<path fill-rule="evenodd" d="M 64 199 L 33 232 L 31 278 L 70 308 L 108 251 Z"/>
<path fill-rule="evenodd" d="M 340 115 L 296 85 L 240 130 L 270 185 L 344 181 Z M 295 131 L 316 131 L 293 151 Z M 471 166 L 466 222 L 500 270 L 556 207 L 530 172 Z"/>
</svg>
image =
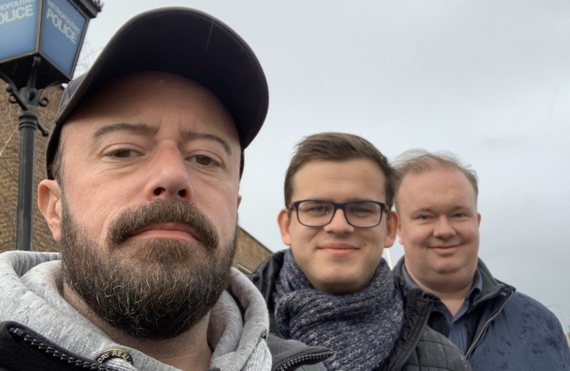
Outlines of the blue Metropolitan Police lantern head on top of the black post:
<svg viewBox="0 0 570 371">
<path fill-rule="evenodd" d="M 71 80 L 100 11 L 100 0 L 0 0 L 0 78 L 24 87 L 38 57 L 36 88 Z"/>
</svg>

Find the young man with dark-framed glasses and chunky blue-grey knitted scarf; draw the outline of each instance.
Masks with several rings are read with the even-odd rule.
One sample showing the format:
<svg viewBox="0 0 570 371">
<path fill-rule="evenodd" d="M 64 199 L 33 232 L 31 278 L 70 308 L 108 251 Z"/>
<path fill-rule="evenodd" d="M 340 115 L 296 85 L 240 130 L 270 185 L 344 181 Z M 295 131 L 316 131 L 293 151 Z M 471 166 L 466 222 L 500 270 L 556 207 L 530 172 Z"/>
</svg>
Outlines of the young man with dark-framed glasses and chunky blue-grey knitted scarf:
<svg viewBox="0 0 570 371">
<path fill-rule="evenodd" d="M 297 145 L 277 217 L 290 249 L 250 276 L 270 330 L 333 350 L 327 370 L 470 370 L 426 326 L 431 300 L 395 282 L 382 259 L 398 226 L 394 179 L 386 157 L 356 135 L 321 133 Z"/>
</svg>

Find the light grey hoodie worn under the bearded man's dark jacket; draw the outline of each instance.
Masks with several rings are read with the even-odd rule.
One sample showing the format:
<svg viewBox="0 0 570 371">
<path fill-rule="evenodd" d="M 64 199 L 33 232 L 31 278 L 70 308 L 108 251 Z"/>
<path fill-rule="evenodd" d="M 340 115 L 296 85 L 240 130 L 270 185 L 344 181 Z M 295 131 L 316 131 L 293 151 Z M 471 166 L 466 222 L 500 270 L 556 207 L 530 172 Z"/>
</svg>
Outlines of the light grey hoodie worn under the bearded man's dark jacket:
<svg viewBox="0 0 570 371">
<path fill-rule="evenodd" d="M 119 358 L 105 363 L 118 370 L 178 370 L 115 343 L 63 299 L 62 288 L 59 254 L 0 254 L 0 322 L 19 322 L 87 359 L 97 359 L 111 348 L 124 349 L 132 356 L 132 365 Z M 242 273 L 232 269 L 228 290 L 210 314 L 207 337 L 214 350 L 210 366 L 223 371 L 271 370 L 271 354 L 265 341 L 268 329 L 263 297 Z"/>
</svg>

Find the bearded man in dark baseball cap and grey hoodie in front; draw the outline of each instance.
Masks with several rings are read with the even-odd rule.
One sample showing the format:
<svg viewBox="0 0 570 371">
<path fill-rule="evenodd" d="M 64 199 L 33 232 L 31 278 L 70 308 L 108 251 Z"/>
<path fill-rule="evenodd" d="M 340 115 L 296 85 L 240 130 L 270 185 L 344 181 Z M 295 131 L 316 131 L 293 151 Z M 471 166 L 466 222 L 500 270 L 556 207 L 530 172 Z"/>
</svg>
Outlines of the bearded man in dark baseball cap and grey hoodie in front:
<svg viewBox="0 0 570 371">
<path fill-rule="evenodd" d="M 186 8 L 128 21 L 52 126 L 38 205 L 61 254 L 0 256 L 0 370 L 296 370 L 328 357 L 266 341 L 264 300 L 231 269 L 243 150 L 267 107 L 261 66 L 227 25 Z"/>
</svg>

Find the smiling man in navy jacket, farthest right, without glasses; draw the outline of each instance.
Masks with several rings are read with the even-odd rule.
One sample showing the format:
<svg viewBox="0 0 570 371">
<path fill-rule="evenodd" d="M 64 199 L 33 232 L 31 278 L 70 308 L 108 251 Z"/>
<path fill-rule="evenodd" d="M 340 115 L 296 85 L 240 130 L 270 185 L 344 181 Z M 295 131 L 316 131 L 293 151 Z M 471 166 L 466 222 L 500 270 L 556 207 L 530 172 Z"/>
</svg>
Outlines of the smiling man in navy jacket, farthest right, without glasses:
<svg viewBox="0 0 570 371">
<path fill-rule="evenodd" d="M 412 150 L 396 160 L 394 271 L 432 294 L 429 324 L 473 370 L 570 370 L 560 322 L 543 304 L 496 280 L 478 258 L 477 175 L 451 154 Z"/>
</svg>

